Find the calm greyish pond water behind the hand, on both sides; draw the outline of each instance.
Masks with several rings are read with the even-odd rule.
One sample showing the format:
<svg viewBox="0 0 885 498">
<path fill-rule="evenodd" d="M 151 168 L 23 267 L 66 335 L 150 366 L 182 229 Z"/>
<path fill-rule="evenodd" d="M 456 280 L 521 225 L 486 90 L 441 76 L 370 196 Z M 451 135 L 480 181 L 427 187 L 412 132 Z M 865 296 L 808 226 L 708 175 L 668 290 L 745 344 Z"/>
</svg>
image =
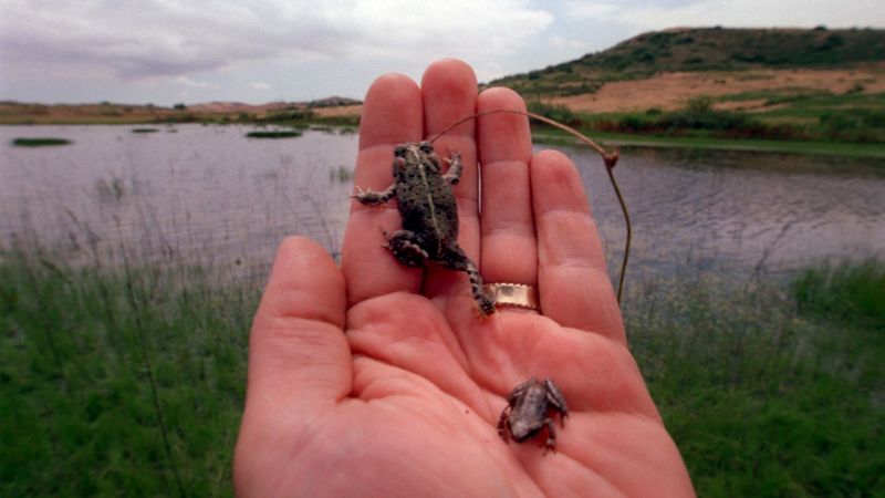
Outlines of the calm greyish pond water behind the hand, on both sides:
<svg viewBox="0 0 885 498">
<path fill-rule="evenodd" d="M 0 127 L 0 240 L 70 261 L 160 260 L 263 278 L 279 241 L 337 253 L 354 134 L 247 138 L 249 126 Z M 13 147 L 17 137 L 63 137 Z M 624 225 L 598 157 L 577 165 L 615 276 Z M 885 258 L 885 162 L 801 155 L 623 149 L 615 169 L 634 221 L 632 281 L 698 272 L 782 273 Z"/>
</svg>

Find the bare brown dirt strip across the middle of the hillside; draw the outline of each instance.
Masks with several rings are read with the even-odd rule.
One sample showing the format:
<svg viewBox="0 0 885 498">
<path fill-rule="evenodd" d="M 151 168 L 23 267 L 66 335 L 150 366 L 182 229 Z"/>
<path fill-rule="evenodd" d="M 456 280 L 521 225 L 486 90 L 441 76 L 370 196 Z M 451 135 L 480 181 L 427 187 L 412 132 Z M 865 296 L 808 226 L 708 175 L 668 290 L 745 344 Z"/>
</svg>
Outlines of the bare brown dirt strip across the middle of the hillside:
<svg viewBox="0 0 885 498">
<path fill-rule="evenodd" d="M 653 107 L 673 111 L 685 107 L 689 100 L 699 95 L 716 97 L 747 92 L 795 94 L 814 91 L 840 94 L 860 87 L 863 87 L 863 93 L 885 92 L 885 71 L 874 66 L 852 71 L 756 70 L 662 73 L 647 80 L 606 83 L 596 93 L 554 97 L 550 102 L 565 105 L 572 111 L 587 113 L 646 111 Z M 727 104 L 736 106 L 730 108 L 752 111 L 763 105 L 764 98 Z"/>
</svg>

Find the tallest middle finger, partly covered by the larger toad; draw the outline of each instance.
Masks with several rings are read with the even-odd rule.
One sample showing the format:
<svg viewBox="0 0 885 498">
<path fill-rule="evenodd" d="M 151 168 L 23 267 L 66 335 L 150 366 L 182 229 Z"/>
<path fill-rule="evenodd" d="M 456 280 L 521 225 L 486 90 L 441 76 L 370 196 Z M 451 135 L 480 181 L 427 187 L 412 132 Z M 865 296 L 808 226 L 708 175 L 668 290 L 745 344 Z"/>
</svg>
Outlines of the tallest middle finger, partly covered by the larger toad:
<svg viewBox="0 0 885 498">
<path fill-rule="evenodd" d="M 428 138 L 436 137 L 434 149 L 441 159 L 454 153 L 461 156 L 464 169 L 457 185 L 452 186 L 458 205 L 458 242 L 467 256 L 477 261 L 479 257 L 478 176 L 473 120 L 446 129 L 454 123 L 476 112 L 477 79 L 473 70 L 455 59 L 444 59 L 430 64 L 421 79 L 425 132 Z M 464 274 L 430 266 L 425 281 L 428 295 L 441 293 L 466 293 Z M 457 283 L 456 283 L 457 282 Z M 455 283 L 455 284 L 454 284 Z"/>
</svg>

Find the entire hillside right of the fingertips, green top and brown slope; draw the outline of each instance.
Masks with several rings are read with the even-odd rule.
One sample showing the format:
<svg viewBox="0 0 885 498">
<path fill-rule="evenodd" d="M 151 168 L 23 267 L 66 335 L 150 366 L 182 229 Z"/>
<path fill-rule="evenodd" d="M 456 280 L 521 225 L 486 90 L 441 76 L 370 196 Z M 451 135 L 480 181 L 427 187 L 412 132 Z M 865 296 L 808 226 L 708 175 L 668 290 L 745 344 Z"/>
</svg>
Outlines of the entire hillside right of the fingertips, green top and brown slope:
<svg viewBox="0 0 885 498">
<path fill-rule="evenodd" d="M 670 29 L 488 85 L 597 134 L 885 143 L 881 29 Z"/>
</svg>

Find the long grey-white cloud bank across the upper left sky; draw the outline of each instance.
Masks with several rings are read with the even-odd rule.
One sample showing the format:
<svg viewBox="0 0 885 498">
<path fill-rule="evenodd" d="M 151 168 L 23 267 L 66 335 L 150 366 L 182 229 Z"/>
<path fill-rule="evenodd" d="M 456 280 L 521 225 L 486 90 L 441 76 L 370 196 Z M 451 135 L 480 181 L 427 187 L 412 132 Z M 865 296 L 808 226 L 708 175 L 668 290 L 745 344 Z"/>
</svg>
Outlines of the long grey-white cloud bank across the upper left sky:
<svg viewBox="0 0 885 498">
<path fill-rule="evenodd" d="M 0 10 L 4 65 L 122 80 L 175 81 L 269 60 L 416 58 L 480 46 L 500 54 L 553 22 L 521 0 L 420 8 L 402 0 L 0 0 Z"/>
</svg>

